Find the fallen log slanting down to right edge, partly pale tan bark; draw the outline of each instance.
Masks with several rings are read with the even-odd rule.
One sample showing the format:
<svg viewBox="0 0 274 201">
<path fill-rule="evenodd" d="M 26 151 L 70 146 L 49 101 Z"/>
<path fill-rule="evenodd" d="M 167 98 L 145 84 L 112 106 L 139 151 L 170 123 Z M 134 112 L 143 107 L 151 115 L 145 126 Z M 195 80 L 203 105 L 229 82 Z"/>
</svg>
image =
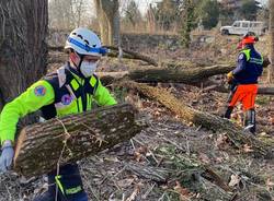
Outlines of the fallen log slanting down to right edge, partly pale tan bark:
<svg viewBox="0 0 274 201">
<path fill-rule="evenodd" d="M 138 84 L 129 81 L 123 82 L 119 85 L 135 90 L 146 97 L 158 100 L 160 104 L 176 114 L 183 121 L 193 122 L 194 125 L 203 126 L 204 128 L 213 131 L 226 132 L 233 145 L 239 149 L 241 149 L 243 145 L 249 145 L 253 150 L 255 156 L 264 156 L 265 158 L 273 157 L 273 143 L 258 140 L 251 133 L 243 131 L 240 126 L 228 119 L 222 119 L 212 114 L 202 113 L 191 108 L 164 88 L 152 87 L 146 84 Z"/>
</svg>

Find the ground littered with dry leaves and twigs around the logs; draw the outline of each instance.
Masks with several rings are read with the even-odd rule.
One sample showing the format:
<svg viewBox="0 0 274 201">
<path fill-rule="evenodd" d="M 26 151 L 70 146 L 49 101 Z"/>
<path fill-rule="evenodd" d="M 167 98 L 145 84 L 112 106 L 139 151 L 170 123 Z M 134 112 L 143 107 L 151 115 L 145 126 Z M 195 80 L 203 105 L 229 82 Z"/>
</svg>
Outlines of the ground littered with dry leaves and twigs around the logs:
<svg viewBox="0 0 274 201">
<path fill-rule="evenodd" d="M 204 42 L 196 36 L 192 47 L 172 49 L 159 46 L 140 49 L 159 62 L 184 62 L 210 66 L 236 60 L 237 36 L 214 35 Z M 265 37 L 258 44 L 264 48 Z M 138 49 L 136 49 L 138 50 Z M 66 58 L 50 52 L 50 59 Z M 50 63 L 55 69 L 60 63 Z M 142 68 L 142 61 L 105 58 L 99 71 L 125 71 Z M 224 79 L 215 76 L 213 79 Z M 264 78 L 260 80 L 264 82 Z M 227 94 L 204 92 L 202 87 L 185 84 L 161 83 L 189 106 L 220 116 Z M 116 145 L 95 156 L 79 162 L 90 200 L 94 201 L 271 201 L 274 200 L 274 161 L 254 157 L 252 147 L 237 150 L 226 133 L 214 133 L 198 125 L 182 122 L 159 103 L 113 91 L 118 99 L 134 99 L 148 128 L 128 142 Z M 258 135 L 274 138 L 274 99 L 259 95 L 256 99 Z M 233 121 L 241 123 L 240 106 L 233 113 Z M 210 174 L 216 173 L 229 190 L 216 184 Z M 45 177 L 26 180 L 15 174 L 0 175 L 0 201 L 28 201 L 46 190 Z"/>
</svg>

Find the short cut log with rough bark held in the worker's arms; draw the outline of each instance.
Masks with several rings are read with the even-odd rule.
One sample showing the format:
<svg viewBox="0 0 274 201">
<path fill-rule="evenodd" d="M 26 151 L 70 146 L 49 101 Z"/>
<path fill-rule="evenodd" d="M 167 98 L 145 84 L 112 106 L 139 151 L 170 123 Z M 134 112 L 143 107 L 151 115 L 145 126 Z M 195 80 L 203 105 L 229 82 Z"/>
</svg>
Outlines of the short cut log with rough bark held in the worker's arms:
<svg viewBox="0 0 274 201">
<path fill-rule="evenodd" d="M 25 127 L 18 139 L 14 169 L 31 177 L 129 140 L 142 126 L 132 105 L 121 104 Z"/>
</svg>

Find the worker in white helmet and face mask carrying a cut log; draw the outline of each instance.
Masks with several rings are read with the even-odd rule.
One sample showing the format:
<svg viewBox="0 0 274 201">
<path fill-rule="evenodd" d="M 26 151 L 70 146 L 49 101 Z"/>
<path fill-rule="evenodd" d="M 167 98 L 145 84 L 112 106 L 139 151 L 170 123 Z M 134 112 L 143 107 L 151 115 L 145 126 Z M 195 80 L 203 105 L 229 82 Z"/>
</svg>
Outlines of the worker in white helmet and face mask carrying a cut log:
<svg viewBox="0 0 274 201">
<path fill-rule="evenodd" d="M 76 28 L 67 38 L 68 62 L 46 75 L 7 104 L 1 113 L 2 153 L 0 172 L 12 164 L 14 133 L 20 117 L 41 109 L 45 119 L 91 110 L 92 106 L 116 104 L 94 74 L 100 58 L 106 54 L 99 37 L 88 28 Z M 35 159 L 35 158 L 34 158 Z M 77 164 L 67 164 L 48 173 L 48 191 L 34 201 L 88 201 Z"/>
</svg>

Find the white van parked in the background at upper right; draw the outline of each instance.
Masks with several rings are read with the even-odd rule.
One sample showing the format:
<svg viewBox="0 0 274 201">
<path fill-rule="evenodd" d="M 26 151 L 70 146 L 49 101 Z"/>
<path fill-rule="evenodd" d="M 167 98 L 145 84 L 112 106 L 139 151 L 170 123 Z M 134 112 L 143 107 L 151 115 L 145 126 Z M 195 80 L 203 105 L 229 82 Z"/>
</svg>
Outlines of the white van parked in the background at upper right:
<svg viewBox="0 0 274 201">
<path fill-rule="evenodd" d="M 261 21 L 235 21 L 231 26 L 221 26 L 222 35 L 244 35 L 248 32 L 254 35 L 263 35 L 266 31 L 264 23 Z"/>
</svg>

